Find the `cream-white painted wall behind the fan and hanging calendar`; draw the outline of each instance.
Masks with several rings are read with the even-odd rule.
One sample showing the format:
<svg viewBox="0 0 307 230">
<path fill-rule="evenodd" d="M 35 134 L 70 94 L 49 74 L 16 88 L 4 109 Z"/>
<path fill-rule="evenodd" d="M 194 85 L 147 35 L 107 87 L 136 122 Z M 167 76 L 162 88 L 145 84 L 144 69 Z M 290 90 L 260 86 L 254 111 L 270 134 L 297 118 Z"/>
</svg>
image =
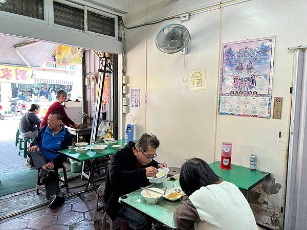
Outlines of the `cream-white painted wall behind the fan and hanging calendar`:
<svg viewBox="0 0 307 230">
<path fill-rule="evenodd" d="M 139 25 L 202 6 L 204 1 L 196 0 L 188 3 L 129 0 L 125 25 Z M 192 37 L 185 57 L 161 53 L 155 44 L 159 30 L 179 22 L 177 19 L 126 30 L 125 74 L 129 76 L 130 88 L 141 89 L 141 107 L 130 108 L 130 117 L 137 120 L 135 139 L 145 131 L 157 134 L 161 141 L 157 158 L 166 160 L 170 166 L 180 166 L 192 156 L 202 157 L 208 163 L 220 160 L 221 143 L 232 142 L 233 164 L 248 167 L 250 154 L 257 154 L 258 169 L 271 172 L 275 183 L 283 184 L 293 65 L 293 54 L 287 48 L 307 43 L 305 12 L 304 0 L 252 0 L 192 15 L 183 22 Z M 283 98 L 281 119 L 216 115 L 220 39 L 231 42 L 268 36 L 276 36 L 272 96 Z M 206 89 L 188 90 L 187 82 L 183 82 L 185 72 L 202 67 L 207 69 Z M 264 189 L 261 186 L 254 189 L 260 197 L 254 197 L 251 206 L 258 222 L 277 229 L 283 221 L 280 214 L 283 188 L 277 189 L 277 194 L 267 194 Z"/>
</svg>

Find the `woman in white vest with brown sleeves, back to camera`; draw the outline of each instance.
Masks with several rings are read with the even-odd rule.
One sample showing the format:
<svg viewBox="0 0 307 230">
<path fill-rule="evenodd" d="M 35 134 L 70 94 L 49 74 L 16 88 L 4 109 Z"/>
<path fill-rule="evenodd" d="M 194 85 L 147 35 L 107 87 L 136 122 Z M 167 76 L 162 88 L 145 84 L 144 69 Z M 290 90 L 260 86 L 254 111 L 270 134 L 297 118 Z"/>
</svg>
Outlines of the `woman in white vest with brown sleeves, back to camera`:
<svg viewBox="0 0 307 230">
<path fill-rule="evenodd" d="M 244 195 L 233 183 L 222 180 L 200 158 L 181 167 L 179 182 L 189 196 L 174 213 L 174 223 L 184 230 L 257 230 Z"/>
</svg>

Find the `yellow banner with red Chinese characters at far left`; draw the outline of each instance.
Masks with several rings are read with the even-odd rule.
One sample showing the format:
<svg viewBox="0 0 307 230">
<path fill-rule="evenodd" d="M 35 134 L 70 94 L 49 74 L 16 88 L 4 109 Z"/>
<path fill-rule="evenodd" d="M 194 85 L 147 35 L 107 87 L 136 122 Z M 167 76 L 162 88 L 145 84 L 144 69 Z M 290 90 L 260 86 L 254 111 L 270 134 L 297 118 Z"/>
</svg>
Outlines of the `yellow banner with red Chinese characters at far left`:
<svg viewBox="0 0 307 230">
<path fill-rule="evenodd" d="M 0 82 L 34 84 L 32 71 L 28 67 L 0 65 Z"/>
</svg>

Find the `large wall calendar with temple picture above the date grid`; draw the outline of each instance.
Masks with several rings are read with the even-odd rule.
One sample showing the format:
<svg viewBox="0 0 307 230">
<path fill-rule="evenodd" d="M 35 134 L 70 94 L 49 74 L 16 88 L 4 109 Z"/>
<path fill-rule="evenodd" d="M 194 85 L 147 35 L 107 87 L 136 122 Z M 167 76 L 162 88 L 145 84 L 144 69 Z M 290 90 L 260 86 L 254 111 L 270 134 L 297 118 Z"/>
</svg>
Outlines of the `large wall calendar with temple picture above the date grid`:
<svg viewBox="0 0 307 230">
<path fill-rule="evenodd" d="M 270 118 L 275 37 L 222 44 L 218 113 Z"/>
</svg>

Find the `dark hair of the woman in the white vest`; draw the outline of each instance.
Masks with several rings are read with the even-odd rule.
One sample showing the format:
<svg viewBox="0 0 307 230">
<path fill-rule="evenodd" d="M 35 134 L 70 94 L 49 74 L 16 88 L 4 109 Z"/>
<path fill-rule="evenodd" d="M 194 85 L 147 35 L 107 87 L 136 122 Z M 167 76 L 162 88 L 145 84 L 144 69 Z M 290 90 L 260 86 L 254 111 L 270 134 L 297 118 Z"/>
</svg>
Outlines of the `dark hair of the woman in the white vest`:
<svg viewBox="0 0 307 230">
<path fill-rule="evenodd" d="M 179 182 L 182 190 L 188 196 L 201 187 L 212 185 L 220 179 L 203 159 L 187 159 L 181 166 Z"/>
</svg>

